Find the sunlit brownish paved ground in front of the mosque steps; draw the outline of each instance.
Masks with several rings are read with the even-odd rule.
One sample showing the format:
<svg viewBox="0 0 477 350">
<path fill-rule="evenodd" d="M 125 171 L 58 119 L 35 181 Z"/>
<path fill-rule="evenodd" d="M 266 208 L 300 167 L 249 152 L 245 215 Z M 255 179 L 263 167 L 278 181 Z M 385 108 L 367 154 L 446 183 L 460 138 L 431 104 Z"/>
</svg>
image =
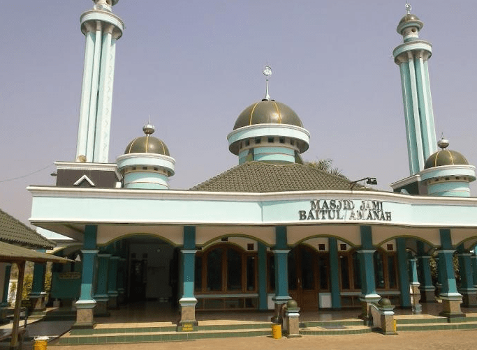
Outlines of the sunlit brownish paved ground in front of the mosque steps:
<svg viewBox="0 0 477 350">
<path fill-rule="evenodd" d="M 193 340 L 189 342 L 162 342 L 140 344 L 111 344 L 88 346 L 57 346 L 48 344 L 51 350 L 200 350 L 200 349 L 367 349 L 413 350 L 476 349 L 477 330 L 433 330 L 402 332 L 398 335 L 368 333 L 363 335 L 321 335 L 279 340 L 272 337 L 244 337 L 226 339 Z"/>
</svg>

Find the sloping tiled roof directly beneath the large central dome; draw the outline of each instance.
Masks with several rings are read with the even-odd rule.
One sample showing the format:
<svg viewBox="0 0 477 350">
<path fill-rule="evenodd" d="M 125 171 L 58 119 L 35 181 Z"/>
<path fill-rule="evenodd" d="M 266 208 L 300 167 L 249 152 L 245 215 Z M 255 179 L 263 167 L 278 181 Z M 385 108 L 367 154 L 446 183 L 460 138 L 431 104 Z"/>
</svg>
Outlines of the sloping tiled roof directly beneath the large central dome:
<svg viewBox="0 0 477 350">
<path fill-rule="evenodd" d="M 307 165 L 244 162 L 191 190 L 211 192 L 287 192 L 350 190 L 350 181 Z"/>
</svg>

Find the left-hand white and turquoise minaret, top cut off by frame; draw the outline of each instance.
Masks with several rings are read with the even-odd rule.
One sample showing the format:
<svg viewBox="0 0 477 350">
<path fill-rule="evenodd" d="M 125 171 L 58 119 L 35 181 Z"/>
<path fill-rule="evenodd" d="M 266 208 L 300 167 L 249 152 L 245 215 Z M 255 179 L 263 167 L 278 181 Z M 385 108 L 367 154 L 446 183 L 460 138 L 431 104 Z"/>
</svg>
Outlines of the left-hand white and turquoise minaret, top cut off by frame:
<svg viewBox="0 0 477 350">
<path fill-rule="evenodd" d="M 93 0 L 80 17 L 86 37 L 76 161 L 108 162 L 116 40 L 124 23 L 112 13 L 118 0 Z"/>
</svg>

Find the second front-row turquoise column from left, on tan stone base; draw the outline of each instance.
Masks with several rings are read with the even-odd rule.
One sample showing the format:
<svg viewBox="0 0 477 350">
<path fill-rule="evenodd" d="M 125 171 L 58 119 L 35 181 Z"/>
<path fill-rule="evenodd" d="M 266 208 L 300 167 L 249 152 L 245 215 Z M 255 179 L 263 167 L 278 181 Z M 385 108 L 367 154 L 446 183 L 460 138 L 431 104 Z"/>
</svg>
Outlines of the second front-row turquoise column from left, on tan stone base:
<svg viewBox="0 0 477 350">
<path fill-rule="evenodd" d="M 194 278 L 196 266 L 196 227 L 184 226 L 184 246 L 181 250 L 181 271 L 179 281 L 181 283 L 182 297 L 179 299 L 180 321 L 177 330 L 190 330 L 196 326 L 196 304 L 194 295 Z"/>
</svg>

